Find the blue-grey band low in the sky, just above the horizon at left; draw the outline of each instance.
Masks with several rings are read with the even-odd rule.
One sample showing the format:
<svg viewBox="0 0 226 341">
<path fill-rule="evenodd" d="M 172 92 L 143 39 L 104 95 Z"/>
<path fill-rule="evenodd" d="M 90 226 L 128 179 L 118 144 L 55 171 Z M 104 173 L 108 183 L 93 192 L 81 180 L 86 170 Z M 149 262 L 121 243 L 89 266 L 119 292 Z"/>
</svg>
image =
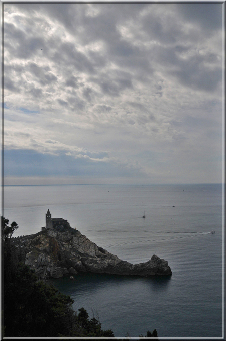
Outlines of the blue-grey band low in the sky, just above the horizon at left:
<svg viewBox="0 0 226 341">
<path fill-rule="evenodd" d="M 94 156 L 94 155 L 93 155 Z M 78 154 L 71 157 L 69 153 L 60 156 L 37 153 L 34 150 L 6 150 L 4 153 L 4 175 L 9 177 L 83 177 L 112 178 L 139 177 L 140 169 L 137 163 L 121 163 L 117 159 L 107 157 L 96 158 Z"/>
</svg>

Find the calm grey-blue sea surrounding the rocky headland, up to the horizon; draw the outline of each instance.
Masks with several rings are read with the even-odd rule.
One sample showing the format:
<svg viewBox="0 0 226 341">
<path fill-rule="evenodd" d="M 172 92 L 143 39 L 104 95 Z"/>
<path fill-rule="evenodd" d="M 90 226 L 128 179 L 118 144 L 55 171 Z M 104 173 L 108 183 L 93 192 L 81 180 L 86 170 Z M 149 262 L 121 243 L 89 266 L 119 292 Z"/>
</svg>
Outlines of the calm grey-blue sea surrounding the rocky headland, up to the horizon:
<svg viewBox="0 0 226 341">
<path fill-rule="evenodd" d="M 223 338 L 222 184 L 4 186 L 4 217 L 19 225 L 14 236 L 39 232 L 48 209 L 124 261 L 156 254 L 172 270 L 52 280 L 75 311 L 84 307 L 116 337 L 156 329 L 159 338 Z"/>
</svg>

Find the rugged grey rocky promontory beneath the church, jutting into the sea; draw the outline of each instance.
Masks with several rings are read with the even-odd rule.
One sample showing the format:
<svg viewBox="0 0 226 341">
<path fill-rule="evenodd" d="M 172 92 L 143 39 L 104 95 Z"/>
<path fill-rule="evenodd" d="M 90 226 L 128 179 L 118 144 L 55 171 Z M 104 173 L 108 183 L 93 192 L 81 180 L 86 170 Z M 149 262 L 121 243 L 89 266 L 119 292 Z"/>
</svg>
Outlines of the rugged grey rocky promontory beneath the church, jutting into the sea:
<svg viewBox="0 0 226 341">
<path fill-rule="evenodd" d="M 40 278 L 59 278 L 78 272 L 117 275 L 171 275 L 168 262 L 156 255 L 145 263 L 120 260 L 82 235 L 67 227 L 64 231 L 46 228 L 15 244 L 20 261 L 34 269 Z"/>
</svg>

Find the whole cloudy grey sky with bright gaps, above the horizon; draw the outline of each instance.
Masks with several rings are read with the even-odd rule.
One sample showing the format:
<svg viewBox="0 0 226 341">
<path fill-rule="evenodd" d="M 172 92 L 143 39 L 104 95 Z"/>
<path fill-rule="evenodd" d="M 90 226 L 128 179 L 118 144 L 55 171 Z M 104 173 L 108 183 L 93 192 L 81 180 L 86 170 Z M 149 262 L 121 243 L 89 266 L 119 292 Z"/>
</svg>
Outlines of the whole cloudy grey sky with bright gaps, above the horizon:
<svg viewBox="0 0 226 341">
<path fill-rule="evenodd" d="M 221 182 L 222 12 L 5 3 L 5 184 Z"/>
</svg>

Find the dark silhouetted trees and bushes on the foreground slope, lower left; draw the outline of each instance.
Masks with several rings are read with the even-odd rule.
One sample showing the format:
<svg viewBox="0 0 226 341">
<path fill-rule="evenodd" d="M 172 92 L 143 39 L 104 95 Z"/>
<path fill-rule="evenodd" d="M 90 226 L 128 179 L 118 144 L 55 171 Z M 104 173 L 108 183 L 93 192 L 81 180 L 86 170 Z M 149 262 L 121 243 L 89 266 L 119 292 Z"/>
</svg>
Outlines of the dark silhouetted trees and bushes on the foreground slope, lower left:
<svg viewBox="0 0 226 341">
<path fill-rule="evenodd" d="M 89 318 L 84 308 L 73 311 L 73 300 L 53 285 L 38 280 L 28 266 L 19 262 L 10 242 L 18 225 L 2 217 L 3 250 L 3 337 L 114 337 L 102 330 L 98 316 Z M 126 335 L 130 337 L 129 334 Z M 157 337 L 157 331 L 146 336 Z"/>
</svg>

